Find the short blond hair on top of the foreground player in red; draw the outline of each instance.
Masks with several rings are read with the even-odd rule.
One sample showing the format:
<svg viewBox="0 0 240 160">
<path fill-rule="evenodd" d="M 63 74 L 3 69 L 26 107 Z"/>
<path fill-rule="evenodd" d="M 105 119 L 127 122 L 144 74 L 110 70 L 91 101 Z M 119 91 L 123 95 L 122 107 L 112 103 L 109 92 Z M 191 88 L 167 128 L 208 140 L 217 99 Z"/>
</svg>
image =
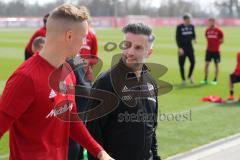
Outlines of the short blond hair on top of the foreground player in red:
<svg viewBox="0 0 240 160">
<path fill-rule="evenodd" d="M 50 13 L 49 18 L 82 22 L 88 20 L 89 13 L 88 10 L 84 9 L 83 7 L 77 7 L 75 5 L 65 3 L 55 8 Z"/>
</svg>

